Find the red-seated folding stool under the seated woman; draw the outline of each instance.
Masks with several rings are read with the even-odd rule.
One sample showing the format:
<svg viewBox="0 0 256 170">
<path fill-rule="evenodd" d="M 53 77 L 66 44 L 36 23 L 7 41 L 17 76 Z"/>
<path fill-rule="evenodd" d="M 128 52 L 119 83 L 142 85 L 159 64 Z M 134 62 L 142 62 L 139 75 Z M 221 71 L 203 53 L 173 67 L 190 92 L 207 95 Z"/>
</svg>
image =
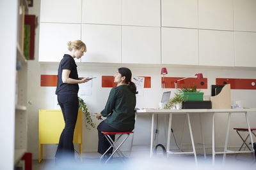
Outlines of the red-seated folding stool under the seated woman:
<svg viewBox="0 0 256 170">
<path fill-rule="evenodd" d="M 108 153 L 108 151 L 113 147 L 113 153 L 110 155 L 110 157 L 106 160 L 105 163 L 107 163 L 109 161 L 109 159 L 111 159 L 111 157 L 113 157 L 113 155 L 115 153 L 118 153 L 119 157 L 122 157 L 122 160 L 125 162 L 125 156 L 124 154 L 119 150 L 120 146 L 122 146 L 122 144 L 124 143 L 124 141 L 129 137 L 129 134 L 132 134 L 133 132 L 101 132 L 102 134 L 104 134 L 105 138 L 108 139 L 108 142 L 110 143 L 110 147 L 108 148 L 108 150 L 100 157 L 100 161 L 103 159 L 103 157 Z M 118 136 L 118 138 L 113 141 L 110 137 L 110 135 L 116 135 L 116 134 L 120 134 L 120 136 Z M 116 142 L 118 141 L 118 139 L 121 138 L 121 136 L 123 136 L 124 134 L 126 134 L 127 136 L 124 138 L 124 140 L 117 146 Z"/>
</svg>

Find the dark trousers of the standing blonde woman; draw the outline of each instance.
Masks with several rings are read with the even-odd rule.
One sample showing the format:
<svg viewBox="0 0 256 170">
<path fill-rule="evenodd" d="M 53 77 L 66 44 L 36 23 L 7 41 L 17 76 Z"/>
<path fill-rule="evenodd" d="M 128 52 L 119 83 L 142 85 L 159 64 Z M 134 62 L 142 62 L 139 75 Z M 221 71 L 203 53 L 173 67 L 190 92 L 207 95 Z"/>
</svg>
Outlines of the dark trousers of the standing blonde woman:
<svg viewBox="0 0 256 170">
<path fill-rule="evenodd" d="M 64 157 L 74 159 L 73 137 L 79 107 L 77 94 L 59 94 L 58 103 L 60 104 L 65 121 L 65 128 L 61 132 L 55 157 L 56 159 Z"/>
</svg>

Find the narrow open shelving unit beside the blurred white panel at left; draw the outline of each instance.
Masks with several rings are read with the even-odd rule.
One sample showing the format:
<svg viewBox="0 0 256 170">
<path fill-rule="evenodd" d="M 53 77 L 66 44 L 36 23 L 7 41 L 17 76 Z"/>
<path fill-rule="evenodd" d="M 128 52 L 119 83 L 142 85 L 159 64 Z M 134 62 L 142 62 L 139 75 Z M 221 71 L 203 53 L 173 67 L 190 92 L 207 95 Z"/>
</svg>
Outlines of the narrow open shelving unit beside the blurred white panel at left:
<svg viewBox="0 0 256 170">
<path fill-rule="evenodd" d="M 27 81 L 28 66 L 23 53 L 24 16 L 28 14 L 26 0 L 18 0 L 18 30 L 17 30 L 17 62 L 21 69 L 16 70 L 15 85 L 15 154 L 14 164 L 17 164 L 27 150 L 28 114 L 27 114 Z"/>
</svg>

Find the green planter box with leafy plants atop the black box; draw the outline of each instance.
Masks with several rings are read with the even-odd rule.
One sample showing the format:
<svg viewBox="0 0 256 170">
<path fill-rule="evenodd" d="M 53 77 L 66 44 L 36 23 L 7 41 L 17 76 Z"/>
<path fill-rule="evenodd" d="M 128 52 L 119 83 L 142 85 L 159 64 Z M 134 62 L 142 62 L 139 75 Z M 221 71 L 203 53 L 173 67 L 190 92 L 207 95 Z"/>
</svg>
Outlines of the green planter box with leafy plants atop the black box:
<svg viewBox="0 0 256 170">
<path fill-rule="evenodd" d="M 196 90 L 196 86 L 192 88 L 182 87 L 179 92 L 181 96 L 186 98 L 186 101 L 204 101 L 204 93 Z"/>
</svg>

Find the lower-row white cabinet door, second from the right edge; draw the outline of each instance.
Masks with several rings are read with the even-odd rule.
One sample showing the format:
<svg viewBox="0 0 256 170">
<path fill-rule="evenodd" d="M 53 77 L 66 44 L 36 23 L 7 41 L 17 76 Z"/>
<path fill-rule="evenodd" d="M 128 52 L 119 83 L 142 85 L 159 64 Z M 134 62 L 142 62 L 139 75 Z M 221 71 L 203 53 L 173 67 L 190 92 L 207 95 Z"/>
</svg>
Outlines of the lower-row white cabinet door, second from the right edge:
<svg viewBox="0 0 256 170">
<path fill-rule="evenodd" d="M 199 65 L 234 66 L 234 32 L 200 30 Z"/>
</svg>

